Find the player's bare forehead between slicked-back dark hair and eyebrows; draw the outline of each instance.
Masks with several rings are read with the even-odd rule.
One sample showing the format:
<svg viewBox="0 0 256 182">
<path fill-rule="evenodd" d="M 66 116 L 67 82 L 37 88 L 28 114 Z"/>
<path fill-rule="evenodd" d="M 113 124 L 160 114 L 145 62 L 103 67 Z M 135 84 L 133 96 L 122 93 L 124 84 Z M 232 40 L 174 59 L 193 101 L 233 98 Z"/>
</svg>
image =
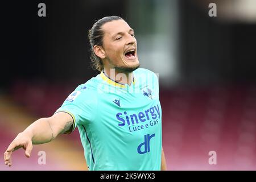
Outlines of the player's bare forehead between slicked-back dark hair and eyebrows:
<svg viewBox="0 0 256 182">
<path fill-rule="evenodd" d="M 105 23 L 102 26 L 102 30 L 106 36 L 113 36 L 118 32 L 127 32 L 131 29 L 128 23 L 125 20 L 113 20 L 111 22 Z"/>
</svg>

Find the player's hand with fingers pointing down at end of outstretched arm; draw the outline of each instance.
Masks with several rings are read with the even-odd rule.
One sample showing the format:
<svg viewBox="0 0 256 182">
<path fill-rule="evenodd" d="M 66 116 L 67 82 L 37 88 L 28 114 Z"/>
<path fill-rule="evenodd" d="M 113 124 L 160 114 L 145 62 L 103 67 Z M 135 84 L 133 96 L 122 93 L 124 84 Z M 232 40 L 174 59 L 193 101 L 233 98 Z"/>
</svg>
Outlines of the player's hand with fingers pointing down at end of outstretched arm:
<svg viewBox="0 0 256 182">
<path fill-rule="evenodd" d="M 32 137 L 30 137 L 27 133 L 19 133 L 17 137 L 11 142 L 7 150 L 5 151 L 5 154 L 3 154 L 3 158 L 5 160 L 5 164 L 8 166 L 11 166 L 11 154 L 13 154 L 13 151 L 23 148 L 25 150 L 25 155 L 27 158 L 30 157 L 33 145 L 32 145 Z"/>
</svg>

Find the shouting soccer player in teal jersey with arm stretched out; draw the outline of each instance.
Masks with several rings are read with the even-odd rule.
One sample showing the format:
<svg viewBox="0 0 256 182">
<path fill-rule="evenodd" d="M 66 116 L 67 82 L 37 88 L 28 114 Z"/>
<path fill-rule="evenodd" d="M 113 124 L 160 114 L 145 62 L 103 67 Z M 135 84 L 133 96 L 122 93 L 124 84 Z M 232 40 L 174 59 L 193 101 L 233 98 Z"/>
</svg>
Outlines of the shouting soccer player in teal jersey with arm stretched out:
<svg viewBox="0 0 256 182">
<path fill-rule="evenodd" d="M 101 73 L 67 97 L 49 118 L 32 123 L 11 142 L 4 159 L 23 147 L 51 142 L 79 129 L 90 170 L 166 170 L 158 77 L 139 68 L 134 30 L 119 16 L 89 30 L 91 60 Z M 150 51 L 150 50 L 149 50 Z"/>
</svg>

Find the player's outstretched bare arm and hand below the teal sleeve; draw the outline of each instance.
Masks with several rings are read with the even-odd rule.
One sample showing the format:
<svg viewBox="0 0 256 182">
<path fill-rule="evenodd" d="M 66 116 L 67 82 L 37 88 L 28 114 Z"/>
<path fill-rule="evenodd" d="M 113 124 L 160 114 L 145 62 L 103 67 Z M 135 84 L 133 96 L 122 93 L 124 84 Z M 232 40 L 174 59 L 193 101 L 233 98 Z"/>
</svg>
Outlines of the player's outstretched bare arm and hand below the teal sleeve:
<svg viewBox="0 0 256 182">
<path fill-rule="evenodd" d="M 11 154 L 18 148 L 24 148 L 25 155 L 29 158 L 32 144 L 51 142 L 59 134 L 72 131 L 73 118 L 71 115 L 59 112 L 49 118 L 41 118 L 32 123 L 11 142 L 4 154 L 5 164 L 11 166 Z"/>
</svg>

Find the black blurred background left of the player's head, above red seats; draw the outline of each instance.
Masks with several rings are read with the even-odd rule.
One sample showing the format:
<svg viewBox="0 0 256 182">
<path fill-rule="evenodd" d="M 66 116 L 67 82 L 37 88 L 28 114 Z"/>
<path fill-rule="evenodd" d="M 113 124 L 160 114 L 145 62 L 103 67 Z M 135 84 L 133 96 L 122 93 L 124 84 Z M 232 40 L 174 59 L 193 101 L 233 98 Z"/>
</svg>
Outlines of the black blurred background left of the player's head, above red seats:
<svg viewBox="0 0 256 182">
<path fill-rule="evenodd" d="M 89 28 L 109 12 L 125 17 L 125 1 L 44 1 L 43 18 L 37 15 L 40 2 L 2 3 L 1 86 L 17 79 L 88 80 L 96 75 L 90 68 Z"/>
</svg>

